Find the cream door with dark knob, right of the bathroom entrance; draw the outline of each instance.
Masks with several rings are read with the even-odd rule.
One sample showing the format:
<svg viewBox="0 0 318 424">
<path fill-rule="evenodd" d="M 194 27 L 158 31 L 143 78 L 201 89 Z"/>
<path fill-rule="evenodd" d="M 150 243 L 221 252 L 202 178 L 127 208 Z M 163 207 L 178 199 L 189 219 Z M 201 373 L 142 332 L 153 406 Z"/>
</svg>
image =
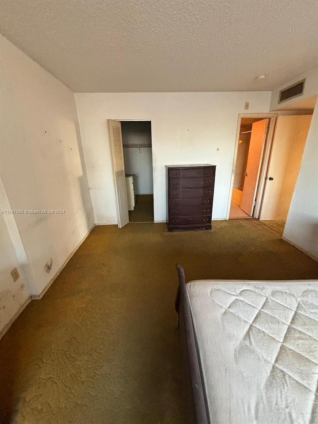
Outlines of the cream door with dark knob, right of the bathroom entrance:
<svg viewBox="0 0 318 424">
<path fill-rule="evenodd" d="M 287 218 L 311 119 L 312 115 L 277 118 L 260 220 Z"/>
</svg>

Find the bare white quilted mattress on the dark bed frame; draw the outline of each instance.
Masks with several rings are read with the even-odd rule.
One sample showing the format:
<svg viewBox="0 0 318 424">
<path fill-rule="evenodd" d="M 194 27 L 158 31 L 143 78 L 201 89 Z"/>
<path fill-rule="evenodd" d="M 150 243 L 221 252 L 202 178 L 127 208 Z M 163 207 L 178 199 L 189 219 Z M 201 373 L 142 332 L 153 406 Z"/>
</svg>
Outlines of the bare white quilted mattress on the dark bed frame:
<svg viewBox="0 0 318 424">
<path fill-rule="evenodd" d="M 212 424 L 318 423 L 318 281 L 192 281 Z"/>
</svg>

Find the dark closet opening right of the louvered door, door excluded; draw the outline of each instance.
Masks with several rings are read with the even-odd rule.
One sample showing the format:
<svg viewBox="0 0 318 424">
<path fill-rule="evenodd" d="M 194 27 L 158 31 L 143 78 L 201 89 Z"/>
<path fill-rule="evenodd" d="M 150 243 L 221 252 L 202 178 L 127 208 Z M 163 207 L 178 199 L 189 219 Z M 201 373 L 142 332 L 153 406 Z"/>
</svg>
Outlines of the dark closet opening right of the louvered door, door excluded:
<svg viewBox="0 0 318 424">
<path fill-rule="evenodd" d="M 121 121 L 130 223 L 154 222 L 151 121 Z"/>
</svg>

